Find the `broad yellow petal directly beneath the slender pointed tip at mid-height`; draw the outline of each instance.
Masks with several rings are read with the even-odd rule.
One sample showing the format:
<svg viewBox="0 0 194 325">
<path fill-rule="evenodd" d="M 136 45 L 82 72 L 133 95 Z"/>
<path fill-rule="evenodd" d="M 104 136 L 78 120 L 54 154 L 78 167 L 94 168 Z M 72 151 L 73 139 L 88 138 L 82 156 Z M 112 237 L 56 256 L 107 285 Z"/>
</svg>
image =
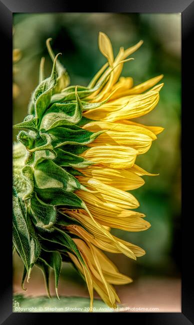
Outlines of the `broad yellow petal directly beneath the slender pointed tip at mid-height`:
<svg viewBox="0 0 194 325">
<path fill-rule="evenodd" d="M 144 179 L 129 170 L 105 168 L 95 165 L 80 169 L 85 176 L 101 180 L 105 184 L 118 189 L 130 190 L 142 186 L 145 183 Z"/>
</svg>

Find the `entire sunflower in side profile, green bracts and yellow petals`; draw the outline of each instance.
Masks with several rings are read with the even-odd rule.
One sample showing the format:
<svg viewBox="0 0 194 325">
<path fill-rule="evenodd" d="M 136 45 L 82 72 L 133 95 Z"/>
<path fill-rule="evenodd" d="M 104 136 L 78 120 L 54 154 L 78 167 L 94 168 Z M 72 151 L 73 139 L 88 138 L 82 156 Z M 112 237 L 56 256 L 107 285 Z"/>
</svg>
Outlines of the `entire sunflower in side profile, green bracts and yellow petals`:
<svg viewBox="0 0 194 325">
<path fill-rule="evenodd" d="M 33 265 L 41 268 L 49 295 L 49 270 L 56 294 L 61 261 L 71 262 L 85 279 L 92 309 L 93 289 L 110 307 L 120 302 L 113 284 L 130 283 L 102 250 L 136 259 L 145 251 L 111 234 L 111 228 L 143 231 L 150 227 L 129 192 L 153 175 L 135 164 L 163 128 L 133 118 L 158 103 L 163 75 L 133 86 L 120 77 L 125 61 L 142 41 L 114 58 L 109 38 L 99 32 L 107 62 L 88 86 L 69 86 L 65 68 L 54 57 L 50 77 L 40 62 L 39 84 L 13 153 L 13 248 L 24 270 L 22 287 Z"/>
</svg>

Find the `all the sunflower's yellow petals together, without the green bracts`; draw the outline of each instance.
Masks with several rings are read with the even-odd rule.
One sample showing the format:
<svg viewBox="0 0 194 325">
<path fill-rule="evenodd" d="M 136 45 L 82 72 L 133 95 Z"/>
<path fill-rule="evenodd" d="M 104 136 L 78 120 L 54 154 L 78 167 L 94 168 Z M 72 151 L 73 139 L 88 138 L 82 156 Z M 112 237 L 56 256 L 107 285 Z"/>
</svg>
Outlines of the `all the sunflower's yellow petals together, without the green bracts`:
<svg viewBox="0 0 194 325">
<path fill-rule="evenodd" d="M 77 176 L 90 192 L 76 191 L 85 202 L 89 214 L 84 210 L 65 211 L 84 225 L 84 228 L 68 226 L 68 231 L 81 238 L 74 240 L 87 265 L 87 271 L 74 256 L 73 262 L 86 278 L 91 299 L 95 288 L 110 306 L 115 306 L 118 299 L 109 283 L 127 283 L 131 279 L 117 273 L 115 266 L 110 266 L 105 255 L 96 247 L 114 253 L 122 252 L 133 259 L 145 253 L 142 248 L 111 235 L 109 230 L 113 227 L 142 231 L 150 227 L 149 222 L 142 218 L 144 214 L 131 210 L 138 207 L 139 203 L 128 190 L 143 185 L 144 180 L 140 176 L 155 175 L 137 166 L 135 160 L 138 154 L 150 148 L 156 134 L 163 130 L 159 126 L 147 126 L 129 120 L 150 112 L 157 105 L 159 91 L 163 86 L 163 83 L 156 85 L 163 75 L 135 86 L 131 77 L 119 78 L 122 61 L 141 44 L 142 41 L 127 50 L 120 47 L 114 59 L 109 38 L 99 33 L 99 49 L 108 65 L 105 64 L 94 76 L 90 87 L 100 82 L 107 71 L 110 74 L 105 85 L 87 99 L 93 103 L 107 99 L 96 108 L 84 110 L 84 118 L 91 121 L 84 123 L 82 128 L 91 132 L 104 132 L 80 154 L 94 163 L 87 168 L 79 168 L 82 175 Z"/>
</svg>

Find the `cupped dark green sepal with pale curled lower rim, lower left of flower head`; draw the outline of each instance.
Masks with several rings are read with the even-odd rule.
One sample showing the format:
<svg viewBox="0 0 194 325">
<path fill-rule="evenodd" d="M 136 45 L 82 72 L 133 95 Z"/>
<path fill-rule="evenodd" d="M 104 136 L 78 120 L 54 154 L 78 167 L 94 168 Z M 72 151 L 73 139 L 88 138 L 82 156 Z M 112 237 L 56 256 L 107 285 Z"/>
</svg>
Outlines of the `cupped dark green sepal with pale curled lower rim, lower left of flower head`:
<svg viewBox="0 0 194 325">
<path fill-rule="evenodd" d="M 56 210 L 53 205 L 42 202 L 34 193 L 30 199 L 30 210 L 35 226 L 48 231 L 52 230 L 56 219 Z"/>
</svg>

